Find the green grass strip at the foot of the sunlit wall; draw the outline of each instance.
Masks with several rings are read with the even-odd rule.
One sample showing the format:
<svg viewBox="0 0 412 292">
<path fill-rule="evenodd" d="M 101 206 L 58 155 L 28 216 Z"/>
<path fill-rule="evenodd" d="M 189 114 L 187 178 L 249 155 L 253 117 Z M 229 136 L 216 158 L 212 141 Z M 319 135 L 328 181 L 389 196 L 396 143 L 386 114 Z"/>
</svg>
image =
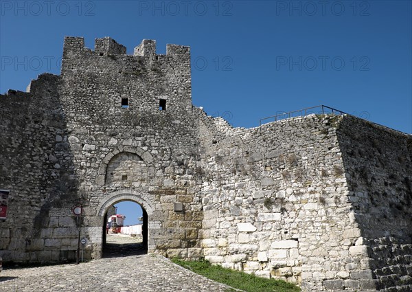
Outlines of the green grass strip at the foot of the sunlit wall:
<svg viewBox="0 0 412 292">
<path fill-rule="evenodd" d="M 172 262 L 206 278 L 247 292 L 300 291 L 299 287 L 294 284 L 282 280 L 259 278 L 241 271 L 211 265 L 207 260 L 186 261 L 172 258 Z"/>
</svg>

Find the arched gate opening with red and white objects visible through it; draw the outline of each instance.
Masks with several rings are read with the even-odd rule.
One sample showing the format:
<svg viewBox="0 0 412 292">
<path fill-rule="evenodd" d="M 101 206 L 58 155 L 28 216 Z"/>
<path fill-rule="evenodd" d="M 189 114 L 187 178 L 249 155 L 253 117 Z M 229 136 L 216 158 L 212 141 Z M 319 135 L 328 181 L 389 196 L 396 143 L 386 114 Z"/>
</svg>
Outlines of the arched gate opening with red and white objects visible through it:
<svg viewBox="0 0 412 292">
<path fill-rule="evenodd" d="M 147 254 L 148 214 L 138 203 L 121 201 L 108 207 L 102 232 L 104 258 Z"/>
</svg>

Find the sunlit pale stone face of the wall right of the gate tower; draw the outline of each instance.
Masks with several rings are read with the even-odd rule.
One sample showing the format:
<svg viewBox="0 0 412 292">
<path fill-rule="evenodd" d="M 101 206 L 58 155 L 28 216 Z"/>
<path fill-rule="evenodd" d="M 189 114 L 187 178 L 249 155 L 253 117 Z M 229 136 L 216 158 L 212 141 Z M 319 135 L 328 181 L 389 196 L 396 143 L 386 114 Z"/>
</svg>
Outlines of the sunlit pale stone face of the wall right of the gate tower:
<svg viewBox="0 0 412 292">
<path fill-rule="evenodd" d="M 342 263 L 360 232 L 327 123 L 312 115 L 203 141 L 205 258 L 312 290 L 349 277 Z"/>
</svg>

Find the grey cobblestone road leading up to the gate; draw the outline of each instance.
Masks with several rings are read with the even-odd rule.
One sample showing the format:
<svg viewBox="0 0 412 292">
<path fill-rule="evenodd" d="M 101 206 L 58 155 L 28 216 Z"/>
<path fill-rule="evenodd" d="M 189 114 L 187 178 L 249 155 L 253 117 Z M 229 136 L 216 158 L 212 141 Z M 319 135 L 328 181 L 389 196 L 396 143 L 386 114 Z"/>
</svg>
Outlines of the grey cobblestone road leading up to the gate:
<svg viewBox="0 0 412 292">
<path fill-rule="evenodd" d="M 80 265 L 4 269 L 1 292 L 38 291 L 227 291 L 153 254 L 102 258 Z"/>
</svg>

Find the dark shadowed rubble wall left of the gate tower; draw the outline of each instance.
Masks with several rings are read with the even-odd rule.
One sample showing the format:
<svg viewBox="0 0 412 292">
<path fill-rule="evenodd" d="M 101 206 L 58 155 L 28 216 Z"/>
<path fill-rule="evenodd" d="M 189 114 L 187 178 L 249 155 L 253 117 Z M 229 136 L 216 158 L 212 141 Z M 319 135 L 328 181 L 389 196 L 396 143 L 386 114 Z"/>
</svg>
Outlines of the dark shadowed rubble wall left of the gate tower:
<svg viewBox="0 0 412 292">
<path fill-rule="evenodd" d="M 11 190 L 8 218 L 0 223 L 6 262 L 63 260 L 77 243 L 66 234 L 76 229 L 73 218 L 49 212 L 58 207 L 70 213 L 67 199 L 77 197 L 71 153 L 56 143 L 65 129 L 59 84 L 58 76 L 43 74 L 30 93 L 0 96 L 0 185 Z"/>
</svg>

